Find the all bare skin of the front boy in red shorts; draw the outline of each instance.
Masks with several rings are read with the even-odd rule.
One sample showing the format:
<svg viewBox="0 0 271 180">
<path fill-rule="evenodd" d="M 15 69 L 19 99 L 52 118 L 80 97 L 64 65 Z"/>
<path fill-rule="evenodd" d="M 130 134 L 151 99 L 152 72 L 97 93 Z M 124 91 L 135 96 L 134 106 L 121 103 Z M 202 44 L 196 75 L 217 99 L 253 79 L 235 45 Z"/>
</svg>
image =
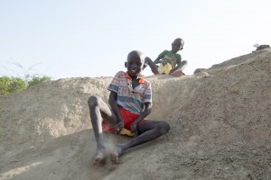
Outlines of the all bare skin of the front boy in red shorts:
<svg viewBox="0 0 271 180">
<path fill-rule="evenodd" d="M 127 73 L 132 78 L 132 87 L 139 85 L 139 74 L 144 68 L 145 59 L 140 51 L 131 51 L 126 61 Z M 117 133 L 124 127 L 124 121 L 117 109 L 117 93 L 110 92 L 109 106 L 98 96 L 89 97 L 89 112 L 92 128 L 97 142 L 96 155 L 94 157 L 94 165 L 104 164 L 106 162 L 106 147 L 102 133 L 102 119 L 107 124 L 114 127 Z M 119 157 L 124 154 L 126 149 L 143 144 L 150 140 L 156 139 L 170 130 L 170 125 L 166 121 L 150 121 L 144 119 L 152 111 L 152 103 L 145 103 L 144 111 L 131 124 L 131 131 L 135 133 L 135 138 L 130 139 L 126 143 L 117 144 L 116 148 L 111 152 L 111 160 L 113 163 L 119 163 Z M 141 121 L 139 124 L 138 122 Z"/>
</svg>

